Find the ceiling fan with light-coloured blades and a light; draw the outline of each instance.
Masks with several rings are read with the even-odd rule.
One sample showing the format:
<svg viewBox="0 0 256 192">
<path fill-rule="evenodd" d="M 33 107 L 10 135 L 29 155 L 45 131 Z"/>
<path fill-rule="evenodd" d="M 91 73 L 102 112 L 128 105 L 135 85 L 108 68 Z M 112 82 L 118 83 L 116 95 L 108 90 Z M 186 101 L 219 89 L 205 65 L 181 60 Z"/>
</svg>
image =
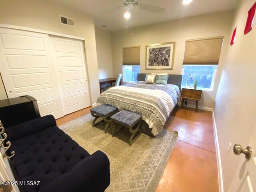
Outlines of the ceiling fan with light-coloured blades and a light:
<svg viewBox="0 0 256 192">
<path fill-rule="evenodd" d="M 158 13 L 158 14 L 164 14 L 164 12 L 166 11 L 166 8 L 140 3 L 139 0 L 122 0 L 122 1 L 124 6 L 120 6 L 120 7 L 128 7 L 130 11 L 134 11 L 134 7 L 136 6 L 138 6 L 138 8 L 141 10 Z"/>
</svg>

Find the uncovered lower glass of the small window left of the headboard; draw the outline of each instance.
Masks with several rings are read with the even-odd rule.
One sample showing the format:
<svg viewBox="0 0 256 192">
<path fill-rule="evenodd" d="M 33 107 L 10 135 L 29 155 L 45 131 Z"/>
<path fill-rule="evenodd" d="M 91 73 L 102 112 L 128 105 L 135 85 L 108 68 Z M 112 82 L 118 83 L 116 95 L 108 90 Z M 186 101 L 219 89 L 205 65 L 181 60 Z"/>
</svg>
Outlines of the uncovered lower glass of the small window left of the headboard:
<svg viewBox="0 0 256 192">
<path fill-rule="evenodd" d="M 137 81 L 138 73 L 140 73 L 139 65 L 123 65 L 123 82 Z"/>
</svg>

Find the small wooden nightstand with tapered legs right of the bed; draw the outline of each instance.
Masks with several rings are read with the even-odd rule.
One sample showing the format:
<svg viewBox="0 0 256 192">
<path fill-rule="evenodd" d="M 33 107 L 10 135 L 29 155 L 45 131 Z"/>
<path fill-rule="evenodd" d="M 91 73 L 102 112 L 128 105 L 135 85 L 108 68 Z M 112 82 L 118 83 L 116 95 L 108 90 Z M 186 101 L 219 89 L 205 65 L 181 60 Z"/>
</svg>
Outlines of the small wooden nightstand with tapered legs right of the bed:
<svg viewBox="0 0 256 192">
<path fill-rule="evenodd" d="M 194 99 L 196 100 L 196 112 L 197 112 L 198 101 L 201 99 L 201 95 L 202 95 L 202 90 L 182 88 L 181 90 L 182 99 L 181 99 L 180 109 L 182 108 L 185 99 Z"/>
</svg>

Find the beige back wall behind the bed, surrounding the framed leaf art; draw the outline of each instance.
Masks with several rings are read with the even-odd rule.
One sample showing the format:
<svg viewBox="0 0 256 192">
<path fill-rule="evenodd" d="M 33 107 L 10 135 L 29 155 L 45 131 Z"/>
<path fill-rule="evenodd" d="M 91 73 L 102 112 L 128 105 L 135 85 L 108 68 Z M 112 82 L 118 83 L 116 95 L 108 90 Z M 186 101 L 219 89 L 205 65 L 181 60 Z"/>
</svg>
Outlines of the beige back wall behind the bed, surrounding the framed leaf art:
<svg viewBox="0 0 256 192">
<path fill-rule="evenodd" d="M 173 70 L 158 70 L 157 72 L 181 74 L 186 40 L 224 36 L 225 46 L 222 49 L 220 56 L 220 63 L 214 89 L 211 92 L 204 91 L 202 99 L 199 101 L 199 106 L 213 108 L 222 71 L 223 56 L 226 54 L 226 45 L 230 42 L 229 35 L 232 18 L 233 12 L 220 12 L 136 27 L 134 28 L 133 35 L 131 35 L 131 29 L 112 32 L 112 60 L 114 76 L 122 73 L 123 47 L 140 45 L 140 72 L 151 73 L 156 71 L 145 70 L 146 45 L 175 41 L 176 47 Z M 193 101 L 191 104 L 195 105 L 195 102 Z"/>
</svg>

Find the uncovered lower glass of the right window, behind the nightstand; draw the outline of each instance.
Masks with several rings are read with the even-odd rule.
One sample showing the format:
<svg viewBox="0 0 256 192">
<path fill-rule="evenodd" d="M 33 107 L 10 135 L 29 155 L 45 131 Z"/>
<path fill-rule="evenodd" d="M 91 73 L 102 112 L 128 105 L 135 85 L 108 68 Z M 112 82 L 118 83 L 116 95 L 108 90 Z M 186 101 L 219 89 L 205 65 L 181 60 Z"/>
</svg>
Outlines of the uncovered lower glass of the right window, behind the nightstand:
<svg viewBox="0 0 256 192">
<path fill-rule="evenodd" d="M 193 87 L 196 80 L 197 89 L 212 91 L 217 68 L 217 65 L 183 65 L 182 87 Z"/>
</svg>

